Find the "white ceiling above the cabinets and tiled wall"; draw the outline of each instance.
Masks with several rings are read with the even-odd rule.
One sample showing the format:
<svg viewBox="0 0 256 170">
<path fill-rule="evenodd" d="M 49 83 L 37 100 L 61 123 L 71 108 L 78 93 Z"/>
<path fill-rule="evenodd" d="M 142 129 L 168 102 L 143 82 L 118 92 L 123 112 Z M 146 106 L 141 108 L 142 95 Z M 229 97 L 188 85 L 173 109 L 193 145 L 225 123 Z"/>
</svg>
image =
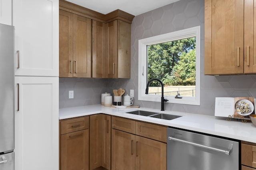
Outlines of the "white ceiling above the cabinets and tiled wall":
<svg viewBox="0 0 256 170">
<path fill-rule="evenodd" d="M 67 0 L 90 10 L 108 14 L 122 10 L 134 16 L 171 4 L 178 0 Z"/>
</svg>

